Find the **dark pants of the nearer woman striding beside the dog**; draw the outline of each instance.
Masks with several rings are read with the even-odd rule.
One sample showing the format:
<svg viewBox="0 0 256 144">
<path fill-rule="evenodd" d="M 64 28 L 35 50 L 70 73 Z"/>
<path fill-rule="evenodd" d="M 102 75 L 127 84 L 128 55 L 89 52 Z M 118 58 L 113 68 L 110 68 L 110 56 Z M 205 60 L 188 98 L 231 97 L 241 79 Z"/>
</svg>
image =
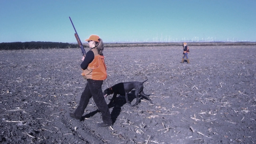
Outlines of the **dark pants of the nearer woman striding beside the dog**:
<svg viewBox="0 0 256 144">
<path fill-rule="evenodd" d="M 102 80 L 87 79 L 87 84 L 84 88 L 84 92 L 81 95 L 79 106 L 76 108 L 76 111 L 74 113 L 77 117 L 81 117 L 84 114 L 84 110 L 87 107 L 90 98 L 92 97 L 101 112 L 102 121 L 108 124 L 112 124 L 108 105 L 105 101 L 101 89 L 102 83 Z"/>
</svg>

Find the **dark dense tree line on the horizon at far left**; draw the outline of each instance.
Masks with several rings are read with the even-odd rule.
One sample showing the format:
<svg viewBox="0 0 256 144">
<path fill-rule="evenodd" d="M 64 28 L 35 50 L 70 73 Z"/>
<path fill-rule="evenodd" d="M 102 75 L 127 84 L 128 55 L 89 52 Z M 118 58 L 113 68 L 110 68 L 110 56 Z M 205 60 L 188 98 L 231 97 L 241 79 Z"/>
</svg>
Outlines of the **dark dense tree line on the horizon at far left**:
<svg viewBox="0 0 256 144">
<path fill-rule="evenodd" d="M 13 42 L 0 43 L 0 50 L 27 50 L 27 49 L 65 49 L 77 48 L 78 44 L 59 42 Z"/>
</svg>

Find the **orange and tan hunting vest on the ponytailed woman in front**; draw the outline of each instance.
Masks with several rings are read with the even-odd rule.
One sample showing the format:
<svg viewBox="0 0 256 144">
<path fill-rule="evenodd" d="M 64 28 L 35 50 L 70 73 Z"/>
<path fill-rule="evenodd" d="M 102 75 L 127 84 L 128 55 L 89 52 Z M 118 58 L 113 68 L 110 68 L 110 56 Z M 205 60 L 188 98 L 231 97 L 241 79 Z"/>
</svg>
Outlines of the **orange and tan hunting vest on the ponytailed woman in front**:
<svg viewBox="0 0 256 144">
<path fill-rule="evenodd" d="M 88 67 L 83 70 L 82 76 L 85 79 L 93 80 L 107 79 L 107 67 L 104 61 L 104 56 L 98 53 L 96 47 L 91 51 L 94 53 L 94 59 L 88 65 Z"/>
</svg>

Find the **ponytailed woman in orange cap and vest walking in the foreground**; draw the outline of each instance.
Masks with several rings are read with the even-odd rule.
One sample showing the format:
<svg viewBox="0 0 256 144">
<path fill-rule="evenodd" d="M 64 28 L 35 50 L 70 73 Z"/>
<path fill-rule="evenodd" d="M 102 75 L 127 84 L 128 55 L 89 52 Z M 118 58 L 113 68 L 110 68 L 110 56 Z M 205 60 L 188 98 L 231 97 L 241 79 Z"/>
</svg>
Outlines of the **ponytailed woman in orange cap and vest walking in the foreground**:
<svg viewBox="0 0 256 144">
<path fill-rule="evenodd" d="M 82 76 L 87 79 L 87 84 L 81 95 L 79 106 L 74 113 L 69 113 L 69 116 L 81 120 L 84 110 L 92 97 L 101 112 L 103 121 L 97 125 L 99 127 L 112 126 L 111 115 L 101 89 L 103 80 L 107 78 L 107 67 L 102 53 L 104 49 L 103 41 L 97 35 L 91 35 L 85 41 L 88 41 L 91 48 L 86 53 L 86 56 L 82 58 L 83 62 L 81 63 Z"/>
</svg>

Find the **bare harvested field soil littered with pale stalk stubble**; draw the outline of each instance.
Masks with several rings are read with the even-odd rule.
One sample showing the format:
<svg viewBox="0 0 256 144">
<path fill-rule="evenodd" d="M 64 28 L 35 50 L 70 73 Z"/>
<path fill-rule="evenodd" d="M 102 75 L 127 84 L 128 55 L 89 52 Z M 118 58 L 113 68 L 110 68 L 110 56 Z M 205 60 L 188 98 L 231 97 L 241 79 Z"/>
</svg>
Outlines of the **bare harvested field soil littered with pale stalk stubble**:
<svg viewBox="0 0 256 144">
<path fill-rule="evenodd" d="M 0 51 L 0 143 L 255 143 L 255 45 L 189 50 L 187 64 L 182 47 L 105 48 L 102 90 L 148 79 L 144 92 L 154 104 L 140 97 L 130 107 L 119 95 L 113 127 L 104 128 L 92 99 L 83 121 L 68 117 L 86 84 L 80 49 Z M 136 101 L 133 92 L 129 100 Z"/>
</svg>

